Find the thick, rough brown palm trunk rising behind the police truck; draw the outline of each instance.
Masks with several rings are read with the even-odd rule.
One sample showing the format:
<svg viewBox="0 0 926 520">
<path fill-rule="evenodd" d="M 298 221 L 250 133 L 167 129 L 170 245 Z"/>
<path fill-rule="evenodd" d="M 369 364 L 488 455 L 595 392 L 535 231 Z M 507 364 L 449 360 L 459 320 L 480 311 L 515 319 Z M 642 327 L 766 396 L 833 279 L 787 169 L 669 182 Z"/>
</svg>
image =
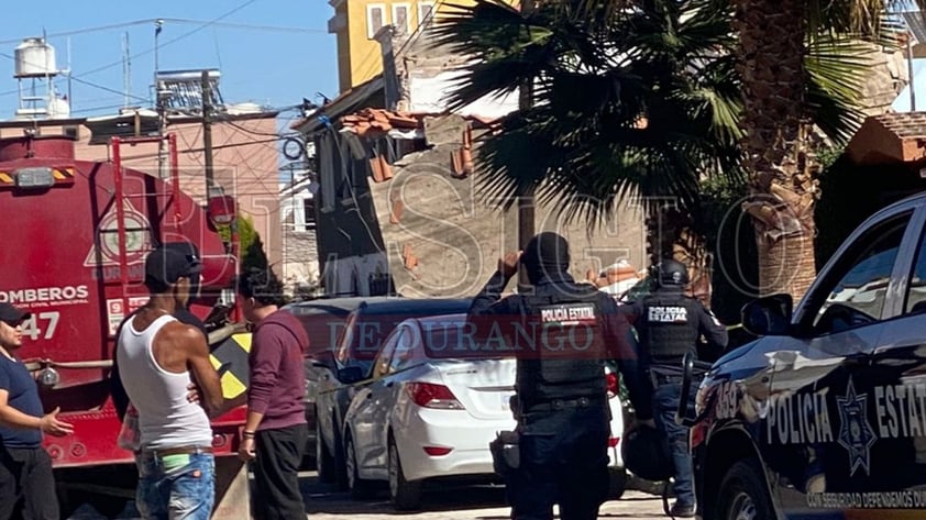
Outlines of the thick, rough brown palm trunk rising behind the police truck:
<svg viewBox="0 0 926 520">
<path fill-rule="evenodd" d="M 804 120 L 805 0 L 737 0 L 745 164 L 759 295 L 804 295 L 816 275 L 816 156 Z"/>
</svg>

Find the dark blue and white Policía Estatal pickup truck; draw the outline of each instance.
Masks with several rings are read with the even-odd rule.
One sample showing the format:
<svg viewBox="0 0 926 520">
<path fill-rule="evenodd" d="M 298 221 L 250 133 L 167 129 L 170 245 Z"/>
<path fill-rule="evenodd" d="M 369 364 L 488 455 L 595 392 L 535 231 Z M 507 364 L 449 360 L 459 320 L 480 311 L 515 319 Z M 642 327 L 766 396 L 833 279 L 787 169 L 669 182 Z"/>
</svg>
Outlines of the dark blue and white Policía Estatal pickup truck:
<svg viewBox="0 0 926 520">
<path fill-rule="evenodd" d="M 718 359 L 677 417 L 702 518 L 926 518 L 924 228 L 926 195 L 894 203 L 793 310 L 786 295 L 743 307 L 762 338 Z"/>
</svg>

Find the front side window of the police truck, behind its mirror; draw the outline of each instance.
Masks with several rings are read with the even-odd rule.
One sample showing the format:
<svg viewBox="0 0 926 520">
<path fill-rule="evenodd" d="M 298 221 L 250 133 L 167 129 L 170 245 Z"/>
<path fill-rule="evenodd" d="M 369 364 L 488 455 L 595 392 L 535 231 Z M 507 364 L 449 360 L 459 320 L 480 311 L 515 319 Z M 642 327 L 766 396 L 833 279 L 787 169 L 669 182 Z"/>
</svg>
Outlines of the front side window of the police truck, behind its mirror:
<svg viewBox="0 0 926 520">
<path fill-rule="evenodd" d="M 859 236 L 845 262 L 820 286 L 804 320 L 816 334 L 830 334 L 881 320 L 894 261 L 912 213 L 882 222 Z M 819 306 L 815 309 L 816 306 Z"/>
</svg>

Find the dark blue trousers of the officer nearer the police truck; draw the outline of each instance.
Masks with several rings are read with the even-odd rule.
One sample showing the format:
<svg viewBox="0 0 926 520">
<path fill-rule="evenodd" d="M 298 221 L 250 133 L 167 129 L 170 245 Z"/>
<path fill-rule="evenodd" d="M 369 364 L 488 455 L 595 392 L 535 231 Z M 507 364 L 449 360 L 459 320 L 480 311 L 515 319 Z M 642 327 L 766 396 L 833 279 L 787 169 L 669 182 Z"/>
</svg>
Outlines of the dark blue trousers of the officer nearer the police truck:
<svg viewBox="0 0 926 520">
<path fill-rule="evenodd" d="M 688 429 L 675 423 L 675 411 L 681 398 L 682 385 L 660 385 L 653 392 L 653 419 L 669 441 L 669 452 L 675 466 L 675 499 L 680 504 L 694 505 L 694 469 L 688 452 Z"/>
</svg>

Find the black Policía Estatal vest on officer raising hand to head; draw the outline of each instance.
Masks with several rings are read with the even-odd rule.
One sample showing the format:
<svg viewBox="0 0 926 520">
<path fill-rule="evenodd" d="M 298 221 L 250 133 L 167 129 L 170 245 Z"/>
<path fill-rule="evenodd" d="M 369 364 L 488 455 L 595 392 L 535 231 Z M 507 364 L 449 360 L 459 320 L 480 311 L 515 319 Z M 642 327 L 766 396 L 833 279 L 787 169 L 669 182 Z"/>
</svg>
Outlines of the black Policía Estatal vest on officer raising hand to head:
<svg viewBox="0 0 926 520">
<path fill-rule="evenodd" d="M 553 399 L 604 396 L 605 345 L 599 292 L 527 296 L 525 329 L 536 350 L 518 355 L 516 388 L 525 408 Z"/>
</svg>

